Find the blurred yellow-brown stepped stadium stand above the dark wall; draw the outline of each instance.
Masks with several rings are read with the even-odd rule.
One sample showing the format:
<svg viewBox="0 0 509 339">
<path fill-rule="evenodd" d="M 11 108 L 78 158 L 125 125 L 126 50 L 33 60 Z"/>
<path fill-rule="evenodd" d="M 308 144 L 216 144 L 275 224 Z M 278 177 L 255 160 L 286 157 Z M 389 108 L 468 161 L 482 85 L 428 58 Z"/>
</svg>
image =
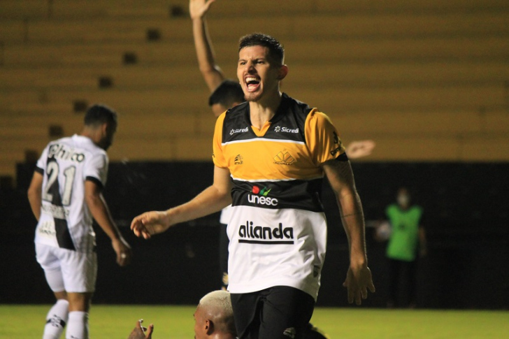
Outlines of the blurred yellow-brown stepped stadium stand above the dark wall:
<svg viewBox="0 0 509 339">
<path fill-rule="evenodd" d="M 113 161 L 208 159 L 187 0 L 4 0 L 0 19 L 0 175 L 40 152 L 50 125 L 78 131 L 75 101 L 121 114 Z M 507 1 L 221 0 L 208 23 L 231 78 L 239 36 L 279 38 L 283 90 L 346 142 L 375 140 L 368 160 L 509 159 Z"/>
</svg>

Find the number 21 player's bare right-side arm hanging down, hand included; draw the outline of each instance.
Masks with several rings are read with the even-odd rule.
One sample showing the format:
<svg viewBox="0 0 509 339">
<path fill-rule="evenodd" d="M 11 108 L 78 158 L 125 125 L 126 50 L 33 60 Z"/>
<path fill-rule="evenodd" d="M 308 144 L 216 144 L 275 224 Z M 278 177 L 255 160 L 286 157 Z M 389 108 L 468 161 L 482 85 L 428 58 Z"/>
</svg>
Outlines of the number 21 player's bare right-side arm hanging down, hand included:
<svg viewBox="0 0 509 339">
<path fill-rule="evenodd" d="M 122 237 L 117 225 L 108 210 L 108 205 L 101 193 L 101 187 L 91 180 L 85 181 L 85 201 L 92 213 L 92 217 L 101 226 L 104 233 L 111 239 L 111 246 L 117 254 L 117 264 L 126 266 L 131 262 L 131 247 Z"/>
</svg>

